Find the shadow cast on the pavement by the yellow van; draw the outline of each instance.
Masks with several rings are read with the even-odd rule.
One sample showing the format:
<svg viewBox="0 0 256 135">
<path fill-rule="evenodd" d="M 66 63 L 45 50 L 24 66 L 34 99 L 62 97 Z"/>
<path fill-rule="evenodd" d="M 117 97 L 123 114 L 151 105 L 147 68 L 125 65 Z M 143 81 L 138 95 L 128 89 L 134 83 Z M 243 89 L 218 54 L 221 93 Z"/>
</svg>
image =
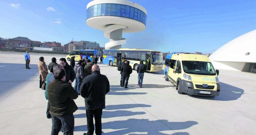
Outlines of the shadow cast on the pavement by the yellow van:
<svg viewBox="0 0 256 135">
<path fill-rule="evenodd" d="M 220 82 L 219 96 L 215 96 L 215 97 L 195 96 L 195 95 L 190 95 L 190 96 L 199 98 L 199 99 L 205 99 L 205 100 L 230 101 L 230 100 L 239 99 L 243 94 L 244 94 L 244 89 L 240 89 L 235 86 Z"/>
</svg>

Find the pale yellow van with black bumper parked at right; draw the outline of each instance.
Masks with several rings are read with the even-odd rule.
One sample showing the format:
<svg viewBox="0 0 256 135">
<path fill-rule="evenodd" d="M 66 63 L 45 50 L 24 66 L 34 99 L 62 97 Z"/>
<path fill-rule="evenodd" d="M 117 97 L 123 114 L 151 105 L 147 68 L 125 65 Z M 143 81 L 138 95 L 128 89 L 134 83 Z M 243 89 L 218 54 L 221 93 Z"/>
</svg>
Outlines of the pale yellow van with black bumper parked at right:
<svg viewBox="0 0 256 135">
<path fill-rule="evenodd" d="M 215 70 L 206 55 L 167 54 L 165 80 L 171 80 L 179 94 L 218 96 L 219 70 Z"/>
</svg>

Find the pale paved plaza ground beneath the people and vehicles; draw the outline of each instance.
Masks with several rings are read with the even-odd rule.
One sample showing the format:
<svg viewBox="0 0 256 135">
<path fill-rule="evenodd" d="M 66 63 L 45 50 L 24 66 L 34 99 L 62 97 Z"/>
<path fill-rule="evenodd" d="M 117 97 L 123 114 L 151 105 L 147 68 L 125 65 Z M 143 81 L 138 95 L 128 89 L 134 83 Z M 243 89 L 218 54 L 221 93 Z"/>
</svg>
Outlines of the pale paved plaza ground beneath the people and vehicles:
<svg viewBox="0 0 256 135">
<path fill-rule="evenodd" d="M 64 55 L 30 54 L 32 69 L 25 69 L 21 53 L 0 52 L 0 135 L 50 135 L 44 91 L 39 89 L 37 62 L 49 64 Z M 256 74 L 220 70 L 217 97 L 180 95 L 163 72 L 145 73 L 138 88 L 137 73 L 129 89 L 119 87 L 117 67 L 103 64 L 110 80 L 102 115 L 104 135 L 254 135 L 256 133 Z M 74 85 L 74 83 L 73 83 Z M 74 135 L 87 131 L 84 99 L 75 100 Z M 62 135 L 60 133 L 59 135 Z"/>
</svg>

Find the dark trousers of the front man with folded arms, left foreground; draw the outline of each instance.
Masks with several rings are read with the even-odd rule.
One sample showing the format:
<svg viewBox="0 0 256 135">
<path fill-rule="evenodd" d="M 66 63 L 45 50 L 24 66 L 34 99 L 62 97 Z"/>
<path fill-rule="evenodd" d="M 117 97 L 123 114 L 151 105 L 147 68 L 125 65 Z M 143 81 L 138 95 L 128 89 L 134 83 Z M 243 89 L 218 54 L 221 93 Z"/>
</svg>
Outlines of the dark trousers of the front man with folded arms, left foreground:
<svg viewBox="0 0 256 135">
<path fill-rule="evenodd" d="M 63 135 L 73 135 L 75 119 L 73 114 L 64 117 L 52 116 L 52 133 L 51 135 L 58 135 L 61 127 L 63 127 Z"/>
</svg>

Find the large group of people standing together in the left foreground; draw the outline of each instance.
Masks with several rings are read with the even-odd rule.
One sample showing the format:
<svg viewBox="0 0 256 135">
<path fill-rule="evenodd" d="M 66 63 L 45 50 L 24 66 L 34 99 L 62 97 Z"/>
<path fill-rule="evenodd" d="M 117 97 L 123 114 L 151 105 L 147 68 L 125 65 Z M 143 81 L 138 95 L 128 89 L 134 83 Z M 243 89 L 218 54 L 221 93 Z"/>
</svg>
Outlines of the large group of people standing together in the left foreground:
<svg viewBox="0 0 256 135">
<path fill-rule="evenodd" d="M 85 62 L 87 61 L 87 62 Z M 102 134 L 102 109 L 105 108 L 105 96 L 110 91 L 110 83 L 105 75 L 100 73 L 100 67 L 89 59 L 79 60 L 74 67 L 65 58 L 52 58 L 47 68 L 44 57 L 37 64 L 40 73 L 40 87 L 46 83 L 45 98 L 48 100 L 46 116 L 52 119 L 51 135 L 58 135 L 61 128 L 64 135 L 73 135 L 74 116 L 77 105 L 74 100 L 78 95 L 85 98 L 87 118 L 87 133 L 93 135 L 93 117 L 96 135 Z M 48 69 L 50 73 L 48 73 Z M 75 87 L 72 82 L 76 81 Z"/>
</svg>

